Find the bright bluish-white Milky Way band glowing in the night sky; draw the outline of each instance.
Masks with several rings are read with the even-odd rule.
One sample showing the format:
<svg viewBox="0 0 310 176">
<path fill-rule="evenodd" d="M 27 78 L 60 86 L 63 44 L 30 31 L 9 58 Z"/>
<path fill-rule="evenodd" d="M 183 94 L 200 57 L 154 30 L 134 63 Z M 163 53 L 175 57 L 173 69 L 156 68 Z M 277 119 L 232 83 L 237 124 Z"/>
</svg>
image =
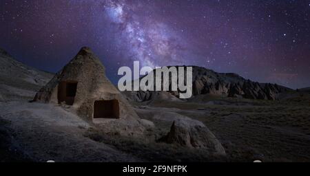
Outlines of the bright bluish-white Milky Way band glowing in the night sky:
<svg viewBox="0 0 310 176">
<path fill-rule="evenodd" d="M 184 42 L 169 25 L 153 19 L 151 14 L 136 15 L 134 11 L 139 5 L 127 5 L 126 1 L 105 1 L 103 7 L 107 16 L 112 25 L 120 30 L 121 37 L 116 36 L 116 45 L 128 51 L 130 57 L 127 59 L 141 61 L 145 66 L 183 63 L 180 49 Z M 143 8 L 145 11 L 152 10 L 149 6 Z"/>
</svg>

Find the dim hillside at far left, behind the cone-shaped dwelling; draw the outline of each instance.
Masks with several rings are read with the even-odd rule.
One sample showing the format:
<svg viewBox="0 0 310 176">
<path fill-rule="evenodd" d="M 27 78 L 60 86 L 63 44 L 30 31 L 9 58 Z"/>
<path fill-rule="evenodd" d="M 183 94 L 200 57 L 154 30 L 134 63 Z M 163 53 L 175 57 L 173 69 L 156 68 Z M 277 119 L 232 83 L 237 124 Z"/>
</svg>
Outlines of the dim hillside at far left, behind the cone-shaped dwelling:
<svg viewBox="0 0 310 176">
<path fill-rule="evenodd" d="M 0 48 L 0 100 L 30 98 L 48 83 L 53 74 L 16 61 Z"/>
</svg>

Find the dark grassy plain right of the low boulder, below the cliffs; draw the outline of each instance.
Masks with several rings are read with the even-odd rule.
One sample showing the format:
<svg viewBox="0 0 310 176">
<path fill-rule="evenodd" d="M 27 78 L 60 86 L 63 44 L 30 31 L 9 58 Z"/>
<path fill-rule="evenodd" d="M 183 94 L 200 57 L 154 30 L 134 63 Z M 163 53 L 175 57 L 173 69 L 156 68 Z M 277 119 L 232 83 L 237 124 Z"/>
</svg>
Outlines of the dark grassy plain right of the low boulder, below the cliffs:
<svg viewBox="0 0 310 176">
<path fill-rule="evenodd" d="M 155 102 L 147 109 L 174 111 L 205 123 L 229 161 L 309 162 L 309 95 L 276 101 L 204 96 L 200 103 Z"/>
</svg>

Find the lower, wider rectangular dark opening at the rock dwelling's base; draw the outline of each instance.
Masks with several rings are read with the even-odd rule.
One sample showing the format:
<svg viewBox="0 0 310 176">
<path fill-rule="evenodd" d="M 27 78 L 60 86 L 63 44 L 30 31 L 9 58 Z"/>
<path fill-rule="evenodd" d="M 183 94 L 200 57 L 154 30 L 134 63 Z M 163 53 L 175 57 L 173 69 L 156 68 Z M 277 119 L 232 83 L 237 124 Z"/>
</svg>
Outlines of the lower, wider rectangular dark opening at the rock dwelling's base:
<svg viewBox="0 0 310 176">
<path fill-rule="evenodd" d="M 95 101 L 94 118 L 119 118 L 118 100 Z"/>
</svg>

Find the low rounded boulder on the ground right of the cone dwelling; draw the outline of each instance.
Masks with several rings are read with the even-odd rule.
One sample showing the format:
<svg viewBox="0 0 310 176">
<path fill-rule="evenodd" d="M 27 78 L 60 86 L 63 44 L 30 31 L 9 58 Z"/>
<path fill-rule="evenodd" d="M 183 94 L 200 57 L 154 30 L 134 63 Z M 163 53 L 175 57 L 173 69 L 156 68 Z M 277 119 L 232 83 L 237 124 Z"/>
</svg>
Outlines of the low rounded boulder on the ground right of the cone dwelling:
<svg viewBox="0 0 310 176">
<path fill-rule="evenodd" d="M 197 120 L 175 120 L 169 133 L 159 141 L 168 144 L 179 144 L 189 148 L 200 148 L 225 155 L 225 149 L 207 126 Z"/>
</svg>

